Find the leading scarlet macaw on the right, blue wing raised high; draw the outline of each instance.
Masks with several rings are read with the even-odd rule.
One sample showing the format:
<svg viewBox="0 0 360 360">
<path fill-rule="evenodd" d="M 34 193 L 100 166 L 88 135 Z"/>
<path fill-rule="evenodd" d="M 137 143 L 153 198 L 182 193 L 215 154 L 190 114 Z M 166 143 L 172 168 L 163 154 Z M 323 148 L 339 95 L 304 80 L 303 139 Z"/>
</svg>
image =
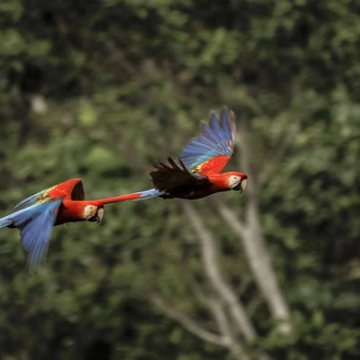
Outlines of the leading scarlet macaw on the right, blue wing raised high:
<svg viewBox="0 0 360 360">
<path fill-rule="evenodd" d="M 158 163 L 149 173 L 154 189 L 127 195 L 127 200 L 201 199 L 216 192 L 244 191 L 248 176 L 238 171 L 221 172 L 233 153 L 235 113 L 223 108 L 220 119 L 211 112 L 209 124 L 203 122 L 201 134 L 190 140 L 175 161 Z"/>
</svg>

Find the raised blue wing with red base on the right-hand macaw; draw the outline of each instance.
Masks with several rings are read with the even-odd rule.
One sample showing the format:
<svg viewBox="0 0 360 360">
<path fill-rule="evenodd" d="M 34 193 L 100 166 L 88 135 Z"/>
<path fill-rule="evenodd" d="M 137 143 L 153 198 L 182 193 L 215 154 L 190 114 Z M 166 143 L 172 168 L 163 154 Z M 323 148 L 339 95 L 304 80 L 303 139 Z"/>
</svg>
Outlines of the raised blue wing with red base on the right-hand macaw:
<svg viewBox="0 0 360 360">
<path fill-rule="evenodd" d="M 235 113 L 223 108 L 220 120 L 214 111 L 209 123 L 202 123 L 201 134 L 192 139 L 179 158 L 190 172 L 219 173 L 229 161 L 235 147 Z"/>
</svg>

